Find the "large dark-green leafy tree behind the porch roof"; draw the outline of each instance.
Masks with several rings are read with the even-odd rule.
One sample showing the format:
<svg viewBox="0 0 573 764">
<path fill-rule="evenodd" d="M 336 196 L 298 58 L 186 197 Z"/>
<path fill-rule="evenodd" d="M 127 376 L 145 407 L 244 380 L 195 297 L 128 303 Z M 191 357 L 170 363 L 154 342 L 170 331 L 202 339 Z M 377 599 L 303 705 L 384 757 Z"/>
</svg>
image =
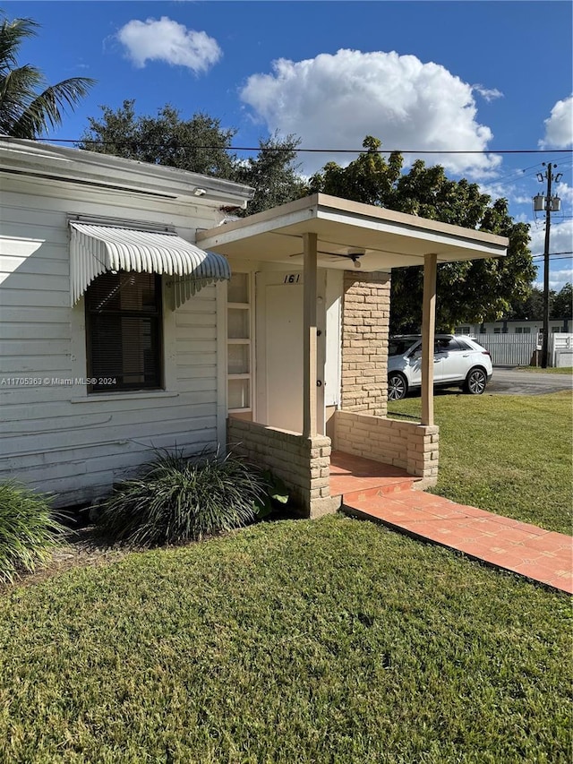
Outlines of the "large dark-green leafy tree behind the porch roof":
<svg viewBox="0 0 573 764">
<path fill-rule="evenodd" d="M 426 167 L 422 160 L 415 161 L 402 175 L 401 155 L 390 154 L 387 161 L 377 153 L 380 147 L 380 141 L 367 137 L 363 142 L 366 151 L 347 167 L 329 162 L 321 173 L 312 176 L 311 191 L 509 237 L 507 257 L 438 267 L 437 327 L 452 330 L 462 322 L 493 321 L 509 310 L 512 301 L 525 299 L 535 277 L 527 246 L 529 228 L 525 223 L 514 223 L 507 201 L 492 202 L 478 185 L 465 178 L 449 180 L 443 167 Z M 422 295 L 422 268 L 392 270 L 392 331 L 419 329 Z"/>
</svg>

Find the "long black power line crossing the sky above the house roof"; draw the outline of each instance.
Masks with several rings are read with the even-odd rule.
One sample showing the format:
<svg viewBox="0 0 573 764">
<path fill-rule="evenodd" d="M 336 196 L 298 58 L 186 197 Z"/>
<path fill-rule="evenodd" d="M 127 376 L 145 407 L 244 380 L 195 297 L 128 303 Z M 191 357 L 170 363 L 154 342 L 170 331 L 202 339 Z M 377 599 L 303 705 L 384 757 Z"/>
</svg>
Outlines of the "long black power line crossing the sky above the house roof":
<svg viewBox="0 0 573 764">
<path fill-rule="evenodd" d="M 138 143 L 135 141 L 96 141 L 85 138 L 34 138 L 37 142 L 50 141 L 53 143 L 90 143 L 99 146 L 133 146 L 139 145 L 147 149 L 164 146 L 164 143 Z M 570 154 L 573 149 L 488 149 L 488 150 L 452 150 L 452 149 L 295 149 L 286 146 L 197 146 L 186 143 L 170 144 L 173 149 L 201 149 L 225 151 L 295 151 L 306 154 Z"/>
</svg>

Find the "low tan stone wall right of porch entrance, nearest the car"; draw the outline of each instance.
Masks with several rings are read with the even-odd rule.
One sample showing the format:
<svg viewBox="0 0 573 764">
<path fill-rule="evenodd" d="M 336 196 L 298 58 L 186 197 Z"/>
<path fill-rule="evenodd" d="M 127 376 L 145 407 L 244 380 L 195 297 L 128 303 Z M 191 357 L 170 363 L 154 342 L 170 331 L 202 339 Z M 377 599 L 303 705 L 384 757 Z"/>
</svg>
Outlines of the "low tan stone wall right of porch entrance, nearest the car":
<svg viewBox="0 0 573 764">
<path fill-rule="evenodd" d="M 374 459 L 423 477 L 426 485 L 438 477 L 439 428 L 352 411 L 336 412 L 334 448 Z"/>
</svg>

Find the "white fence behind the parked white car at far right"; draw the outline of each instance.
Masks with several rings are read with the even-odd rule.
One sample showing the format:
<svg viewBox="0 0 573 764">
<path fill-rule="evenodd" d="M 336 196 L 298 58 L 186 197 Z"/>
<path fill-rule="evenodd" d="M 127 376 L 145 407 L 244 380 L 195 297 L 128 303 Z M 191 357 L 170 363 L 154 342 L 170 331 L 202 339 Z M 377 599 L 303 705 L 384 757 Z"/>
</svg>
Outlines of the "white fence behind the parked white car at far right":
<svg viewBox="0 0 573 764">
<path fill-rule="evenodd" d="M 477 334 L 475 339 L 490 351 L 494 366 L 528 366 L 534 360 L 535 350 L 542 346 L 542 335 L 536 332 Z M 549 335 L 548 365 L 573 366 L 573 334 Z"/>
</svg>

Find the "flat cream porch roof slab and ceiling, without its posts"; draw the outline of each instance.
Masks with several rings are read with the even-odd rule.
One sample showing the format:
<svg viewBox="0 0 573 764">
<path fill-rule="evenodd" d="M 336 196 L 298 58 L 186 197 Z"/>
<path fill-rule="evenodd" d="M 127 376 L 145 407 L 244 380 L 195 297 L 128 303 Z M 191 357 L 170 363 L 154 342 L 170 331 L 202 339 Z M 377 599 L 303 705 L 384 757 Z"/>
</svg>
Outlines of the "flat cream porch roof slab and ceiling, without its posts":
<svg viewBox="0 0 573 764">
<path fill-rule="evenodd" d="M 509 243 L 505 236 L 322 193 L 197 231 L 196 241 L 201 248 L 227 257 L 301 268 L 305 233 L 318 236 L 319 266 L 339 270 L 353 265 L 337 255 L 363 252 L 363 270 L 390 270 L 423 265 L 426 254 L 436 254 L 438 262 L 499 257 L 507 253 Z"/>
</svg>

